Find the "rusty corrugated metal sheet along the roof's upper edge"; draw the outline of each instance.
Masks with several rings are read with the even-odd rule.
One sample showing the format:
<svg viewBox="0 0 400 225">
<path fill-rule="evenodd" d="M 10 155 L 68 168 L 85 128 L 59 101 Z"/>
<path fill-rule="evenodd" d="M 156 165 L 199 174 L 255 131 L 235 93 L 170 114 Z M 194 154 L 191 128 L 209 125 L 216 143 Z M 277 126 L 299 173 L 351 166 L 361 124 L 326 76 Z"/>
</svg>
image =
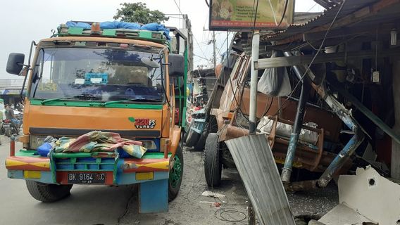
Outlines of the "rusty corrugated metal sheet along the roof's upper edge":
<svg viewBox="0 0 400 225">
<path fill-rule="evenodd" d="M 337 16 L 337 20 L 343 18 L 346 15 L 354 13 L 355 11 L 363 8 L 364 6 L 374 4 L 377 1 L 379 0 L 347 0 L 344 3 L 342 11 L 340 11 L 339 15 Z M 307 23 L 304 23 L 302 25 L 291 25 L 287 28 L 287 30 L 275 32 L 273 34 L 266 34 L 263 37 L 261 37 L 261 39 L 264 41 L 282 40 L 287 37 L 292 37 L 294 34 L 304 33 L 315 27 L 320 27 L 322 25 L 329 24 L 335 18 L 335 15 L 337 14 L 337 11 L 339 11 L 340 6 L 341 4 L 336 4 L 335 6 L 332 6 L 331 8 L 328 8 L 327 10 L 323 11 L 323 13 L 313 18 L 312 20 L 309 20 Z"/>
</svg>

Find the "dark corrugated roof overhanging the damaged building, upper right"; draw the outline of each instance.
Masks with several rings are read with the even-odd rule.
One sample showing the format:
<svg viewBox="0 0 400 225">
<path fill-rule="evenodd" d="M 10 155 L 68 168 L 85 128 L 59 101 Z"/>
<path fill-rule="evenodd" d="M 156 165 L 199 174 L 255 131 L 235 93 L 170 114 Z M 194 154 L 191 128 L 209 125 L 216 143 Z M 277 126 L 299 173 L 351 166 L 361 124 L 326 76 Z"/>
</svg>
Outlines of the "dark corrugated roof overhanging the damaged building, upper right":
<svg viewBox="0 0 400 225">
<path fill-rule="evenodd" d="M 387 34 L 392 29 L 400 28 L 396 23 L 400 18 L 399 11 L 399 0 L 342 0 L 306 23 L 264 34 L 261 41 L 290 49 L 305 43 L 318 46 L 318 41 L 320 43 L 325 37 L 335 17 L 335 23 L 327 35 L 327 39 L 331 39 L 327 41 L 327 46 L 338 44 L 346 38 L 354 38 L 354 35 L 362 36 L 360 34 L 364 33 L 375 37 L 376 33 Z"/>
</svg>

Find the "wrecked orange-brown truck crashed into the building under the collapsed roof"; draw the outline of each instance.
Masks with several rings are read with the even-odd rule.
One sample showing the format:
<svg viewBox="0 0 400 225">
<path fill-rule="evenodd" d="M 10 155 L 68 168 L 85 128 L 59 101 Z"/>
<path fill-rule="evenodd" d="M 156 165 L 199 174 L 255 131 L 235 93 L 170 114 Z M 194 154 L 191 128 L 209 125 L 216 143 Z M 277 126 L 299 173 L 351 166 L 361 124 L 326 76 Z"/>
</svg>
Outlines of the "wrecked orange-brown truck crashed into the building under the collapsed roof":
<svg viewBox="0 0 400 225">
<path fill-rule="evenodd" d="M 220 184 L 222 168 L 235 167 L 224 141 L 249 134 L 249 39 L 249 33 L 236 34 L 231 49 L 236 53 L 230 53 L 231 58 L 227 58 L 235 63 L 225 63 L 205 110 L 206 125 L 199 139 L 206 139 L 204 169 L 208 186 Z M 368 60 L 349 60 L 344 64 L 341 60 L 327 59 L 313 65 L 308 62 L 280 66 L 276 60 L 306 58 L 303 55 L 313 49 L 282 51 L 270 45 L 265 35 L 260 43 L 260 60 L 256 63 L 259 69 L 257 132 L 268 139 L 285 188 L 292 191 L 322 188 L 339 174 L 366 165 L 388 176 L 389 152 L 378 151 L 377 145 L 389 145 L 388 137 L 392 134 L 396 140 L 396 136 L 379 117 L 368 117 L 377 102 L 371 100 L 373 94 L 365 93 L 365 89 L 380 91 L 385 96 L 391 94 L 388 93 L 391 89 L 382 89 L 384 84 L 374 83 L 372 79 L 353 82 L 361 79 L 360 71 L 365 70 Z M 343 54 L 339 53 L 340 47 L 336 51 L 335 56 Z M 378 89 L 377 85 L 380 85 Z M 362 100 L 354 96 L 358 91 L 364 91 Z M 370 104 L 370 109 L 362 107 L 362 101 Z M 385 99 L 387 122 L 394 117 L 393 110 L 389 110 L 393 102 L 389 101 Z M 293 172 L 296 176 L 291 176 Z"/>
</svg>

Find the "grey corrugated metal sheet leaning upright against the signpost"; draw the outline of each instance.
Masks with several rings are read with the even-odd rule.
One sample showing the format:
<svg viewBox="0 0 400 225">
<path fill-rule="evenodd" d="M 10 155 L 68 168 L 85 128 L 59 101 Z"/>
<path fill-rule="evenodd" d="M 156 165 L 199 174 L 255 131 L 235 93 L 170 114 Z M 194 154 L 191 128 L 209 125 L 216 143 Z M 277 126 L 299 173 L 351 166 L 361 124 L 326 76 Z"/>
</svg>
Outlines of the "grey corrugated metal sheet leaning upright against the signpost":
<svg viewBox="0 0 400 225">
<path fill-rule="evenodd" d="M 261 224 L 295 225 L 273 153 L 264 135 L 225 141 Z"/>
</svg>

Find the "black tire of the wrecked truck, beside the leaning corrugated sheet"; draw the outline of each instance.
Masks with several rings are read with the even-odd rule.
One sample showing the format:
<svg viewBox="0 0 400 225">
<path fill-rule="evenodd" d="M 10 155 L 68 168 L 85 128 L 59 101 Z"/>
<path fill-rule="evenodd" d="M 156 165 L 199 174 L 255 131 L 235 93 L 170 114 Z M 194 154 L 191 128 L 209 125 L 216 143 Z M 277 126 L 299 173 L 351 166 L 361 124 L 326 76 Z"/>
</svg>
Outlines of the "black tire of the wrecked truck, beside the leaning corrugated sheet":
<svg viewBox="0 0 400 225">
<path fill-rule="evenodd" d="M 220 186 L 222 169 L 218 135 L 210 133 L 206 139 L 206 146 L 204 146 L 204 175 L 208 186 Z"/>
</svg>

